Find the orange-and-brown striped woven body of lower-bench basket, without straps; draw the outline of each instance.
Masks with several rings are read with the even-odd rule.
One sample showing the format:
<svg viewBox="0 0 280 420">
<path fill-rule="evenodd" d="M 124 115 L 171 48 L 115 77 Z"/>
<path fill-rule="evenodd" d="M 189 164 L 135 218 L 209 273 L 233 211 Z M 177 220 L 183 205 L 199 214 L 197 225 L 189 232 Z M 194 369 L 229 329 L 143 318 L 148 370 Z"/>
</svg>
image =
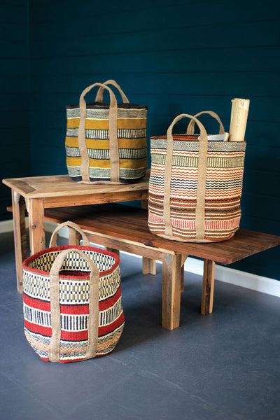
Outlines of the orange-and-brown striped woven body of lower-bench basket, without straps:
<svg viewBox="0 0 280 420">
<path fill-rule="evenodd" d="M 170 185 L 172 237 L 179 241 L 221 241 L 239 228 L 246 143 L 208 141 L 204 199 L 204 239 L 196 239 L 198 136 L 174 135 Z M 165 236 L 164 197 L 167 137 L 151 138 L 148 226 Z"/>
</svg>

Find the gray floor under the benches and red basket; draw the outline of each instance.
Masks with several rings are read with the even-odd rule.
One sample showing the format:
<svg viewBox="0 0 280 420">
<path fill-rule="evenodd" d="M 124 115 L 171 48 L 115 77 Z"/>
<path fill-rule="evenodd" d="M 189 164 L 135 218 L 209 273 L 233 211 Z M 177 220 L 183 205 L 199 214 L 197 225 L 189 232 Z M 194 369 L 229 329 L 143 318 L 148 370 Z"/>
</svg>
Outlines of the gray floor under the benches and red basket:
<svg viewBox="0 0 280 420">
<path fill-rule="evenodd" d="M 181 326 L 161 323 L 161 265 L 121 255 L 125 330 L 115 351 L 46 363 L 23 333 L 12 234 L 0 235 L 1 420 L 279 420 L 280 300 L 216 281 L 200 314 L 202 278 L 185 273 Z"/>
</svg>

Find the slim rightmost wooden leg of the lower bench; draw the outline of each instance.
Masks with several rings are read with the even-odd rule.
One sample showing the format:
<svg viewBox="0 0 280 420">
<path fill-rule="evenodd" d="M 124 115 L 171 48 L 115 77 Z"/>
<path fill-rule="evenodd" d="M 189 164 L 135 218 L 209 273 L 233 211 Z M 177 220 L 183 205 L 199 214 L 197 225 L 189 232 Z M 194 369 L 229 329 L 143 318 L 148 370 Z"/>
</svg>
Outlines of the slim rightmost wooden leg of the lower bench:
<svg viewBox="0 0 280 420">
<path fill-rule="evenodd" d="M 215 262 L 204 260 L 203 285 L 202 285 L 202 315 L 211 314 L 214 300 L 214 274 Z"/>
</svg>

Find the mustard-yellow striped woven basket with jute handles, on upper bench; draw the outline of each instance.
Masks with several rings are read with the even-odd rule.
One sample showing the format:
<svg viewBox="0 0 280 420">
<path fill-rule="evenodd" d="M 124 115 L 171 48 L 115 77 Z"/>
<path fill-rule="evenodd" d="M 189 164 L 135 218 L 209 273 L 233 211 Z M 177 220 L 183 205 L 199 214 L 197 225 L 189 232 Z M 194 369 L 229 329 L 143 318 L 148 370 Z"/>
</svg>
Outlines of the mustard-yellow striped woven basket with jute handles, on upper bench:
<svg viewBox="0 0 280 420">
<path fill-rule="evenodd" d="M 123 103 L 117 103 L 117 87 Z M 99 87 L 95 102 L 85 94 Z M 103 91 L 110 103 L 103 102 Z M 148 106 L 130 104 L 115 80 L 94 83 L 80 94 L 78 105 L 66 106 L 66 164 L 69 176 L 80 183 L 132 183 L 146 174 Z"/>
</svg>

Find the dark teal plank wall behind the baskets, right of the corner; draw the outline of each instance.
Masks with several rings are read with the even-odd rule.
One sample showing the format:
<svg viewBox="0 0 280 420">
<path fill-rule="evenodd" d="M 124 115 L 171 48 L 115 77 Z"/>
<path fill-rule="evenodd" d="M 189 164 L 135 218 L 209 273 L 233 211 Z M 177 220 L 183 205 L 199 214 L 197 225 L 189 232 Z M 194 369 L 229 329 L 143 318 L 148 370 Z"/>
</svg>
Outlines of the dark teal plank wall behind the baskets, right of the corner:
<svg viewBox="0 0 280 420">
<path fill-rule="evenodd" d="M 94 82 L 148 105 L 148 137 L 206 109 L 228 130 L 231 99 L 248 98 L 241 226 L 280 235 L 277 1 L 30 0 L 29 13 L 31 174 L 66 173 L 65 106 Z M 233 267 L 280 279 L 279 250 Z"/>
</svg>

